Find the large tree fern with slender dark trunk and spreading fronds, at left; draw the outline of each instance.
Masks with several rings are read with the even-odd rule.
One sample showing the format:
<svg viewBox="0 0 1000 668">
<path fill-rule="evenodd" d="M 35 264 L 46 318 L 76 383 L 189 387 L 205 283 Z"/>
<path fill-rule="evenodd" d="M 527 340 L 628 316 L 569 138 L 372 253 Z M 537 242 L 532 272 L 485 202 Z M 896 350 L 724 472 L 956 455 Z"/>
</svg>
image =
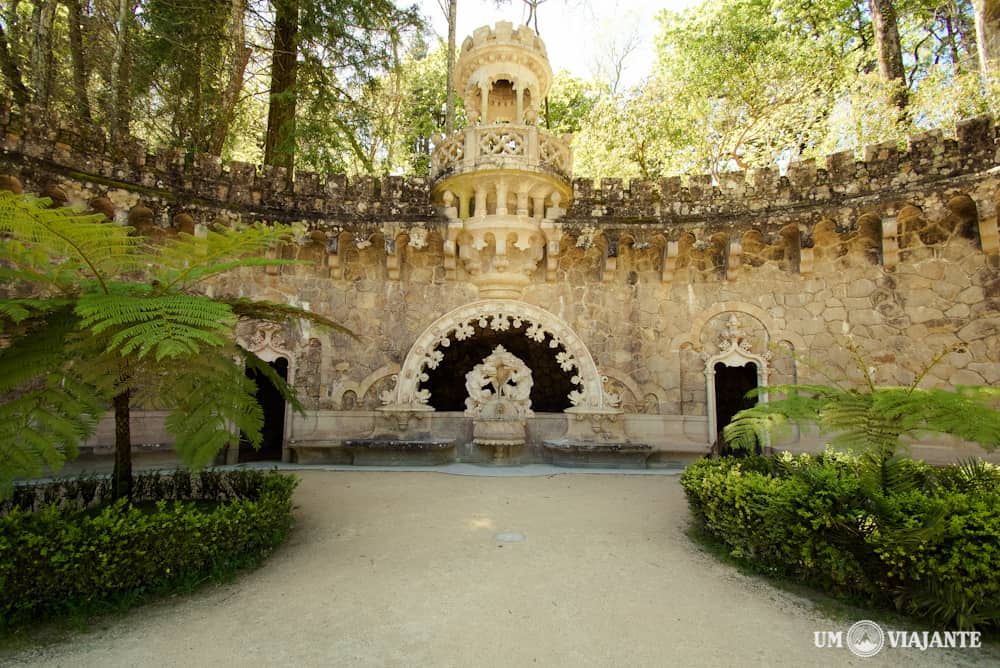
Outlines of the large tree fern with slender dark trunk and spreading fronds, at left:
<svg viewBox="0 0 1000 668">
<path fill-rule="evenodd" d="M 310 311 L 213 298 L 202 284 L 244 267 L 288 264 L 263 251 L 292 239 L 287 225 L 220 228 L 160 244 L 100 214 L 48 208 L 0 192 L 0 496 L 14 479 L 58 470 L 115 416 L 116 497 L 131 489 L 130 408 L 169 411 L 182 460 L 211 462 L 242 432 L 260 444 L 263 412 L 246 368 L 301 410 L 294 391 L 236 342 L 241 318 L 308 320 Z"/>
</svg>

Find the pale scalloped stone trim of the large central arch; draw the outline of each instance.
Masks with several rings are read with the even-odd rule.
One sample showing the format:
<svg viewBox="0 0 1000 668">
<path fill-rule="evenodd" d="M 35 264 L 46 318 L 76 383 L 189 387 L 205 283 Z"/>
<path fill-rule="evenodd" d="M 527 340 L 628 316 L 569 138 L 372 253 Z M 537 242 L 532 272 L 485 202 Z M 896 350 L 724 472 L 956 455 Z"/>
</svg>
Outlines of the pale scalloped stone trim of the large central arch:
<svg viewBox="0 0 1000 668">
<path fill-rule="evenodd" d="M 439 347 L 451 345 L 452 338 L 465 340 L 474 333 L 474 325 L 503 331 L 524 325 L 525 336 L 535 341 L 551 337 L 552 348 L 563 346 L 565 352 L 555 355 L 564 371 L 573 372 L 572 382 L 579 390 L 570 392 L 573 410 L 601 411 L 612 409 L 614 402 L 606 398 L 601 374 L 594 359 L 572 328 L 543 308 L 511 299 L 485 299 L 460 306 L 435 320 L 410 347 L 396 376 L 395 386 L 380 397 L 383 410 L 428 411 L 430 392 L 420 389 L 427 380 L 427 369 L 434 369 L 444 358 Z"/>
</svg>

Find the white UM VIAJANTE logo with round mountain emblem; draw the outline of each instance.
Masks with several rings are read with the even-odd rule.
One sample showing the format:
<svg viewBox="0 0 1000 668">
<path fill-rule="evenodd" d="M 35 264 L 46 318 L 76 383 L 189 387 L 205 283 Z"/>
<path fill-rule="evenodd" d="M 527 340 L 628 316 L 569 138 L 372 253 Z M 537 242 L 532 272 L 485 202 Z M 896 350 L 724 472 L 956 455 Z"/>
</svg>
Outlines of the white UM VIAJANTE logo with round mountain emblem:
<svg viewBox="0 0 1000 668">
<path fill-rule="evenodd" d="M 813 631 L 813 645 L 820 649 L 849 649 L 869 658 L 883 649 L 978 649 L 979 631 L 888 631 L 870 619 L 862 619 L 844 631 Z"/>
</svg>

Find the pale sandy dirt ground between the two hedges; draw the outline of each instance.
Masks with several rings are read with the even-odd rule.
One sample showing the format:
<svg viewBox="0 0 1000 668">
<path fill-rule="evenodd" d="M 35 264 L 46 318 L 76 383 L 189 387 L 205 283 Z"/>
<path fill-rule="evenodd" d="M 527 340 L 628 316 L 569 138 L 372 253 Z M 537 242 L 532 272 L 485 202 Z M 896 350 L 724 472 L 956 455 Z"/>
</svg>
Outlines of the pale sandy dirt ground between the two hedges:
<svg viewBox="0 0 1000 668">
<path fill-rule="evenodd" d="M 11 659 L 45 666 L 942 666 L 818 649 L 809 600 L 692 544 L 676 476 L 299 472 L 297 527 L 230 585 Z M 885 627 L 885 625 L 883 625 Z M 891 623 L 889 624 L 892 627 Z"/>
</svg>

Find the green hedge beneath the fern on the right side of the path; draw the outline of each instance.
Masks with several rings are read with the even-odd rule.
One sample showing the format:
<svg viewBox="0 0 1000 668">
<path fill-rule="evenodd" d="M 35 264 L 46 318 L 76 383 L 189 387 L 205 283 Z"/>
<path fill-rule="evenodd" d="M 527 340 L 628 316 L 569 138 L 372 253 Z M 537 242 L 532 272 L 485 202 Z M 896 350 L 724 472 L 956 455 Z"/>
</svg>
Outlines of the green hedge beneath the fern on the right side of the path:
<svg viewBox="0 0 1000 668">
<path fill-rule="evenodd" d="M 1000 473 L 894 458 L 703 459 L 696 520 L 758 570 L 949 628 L 1000 627 Z"/>
</svg>

